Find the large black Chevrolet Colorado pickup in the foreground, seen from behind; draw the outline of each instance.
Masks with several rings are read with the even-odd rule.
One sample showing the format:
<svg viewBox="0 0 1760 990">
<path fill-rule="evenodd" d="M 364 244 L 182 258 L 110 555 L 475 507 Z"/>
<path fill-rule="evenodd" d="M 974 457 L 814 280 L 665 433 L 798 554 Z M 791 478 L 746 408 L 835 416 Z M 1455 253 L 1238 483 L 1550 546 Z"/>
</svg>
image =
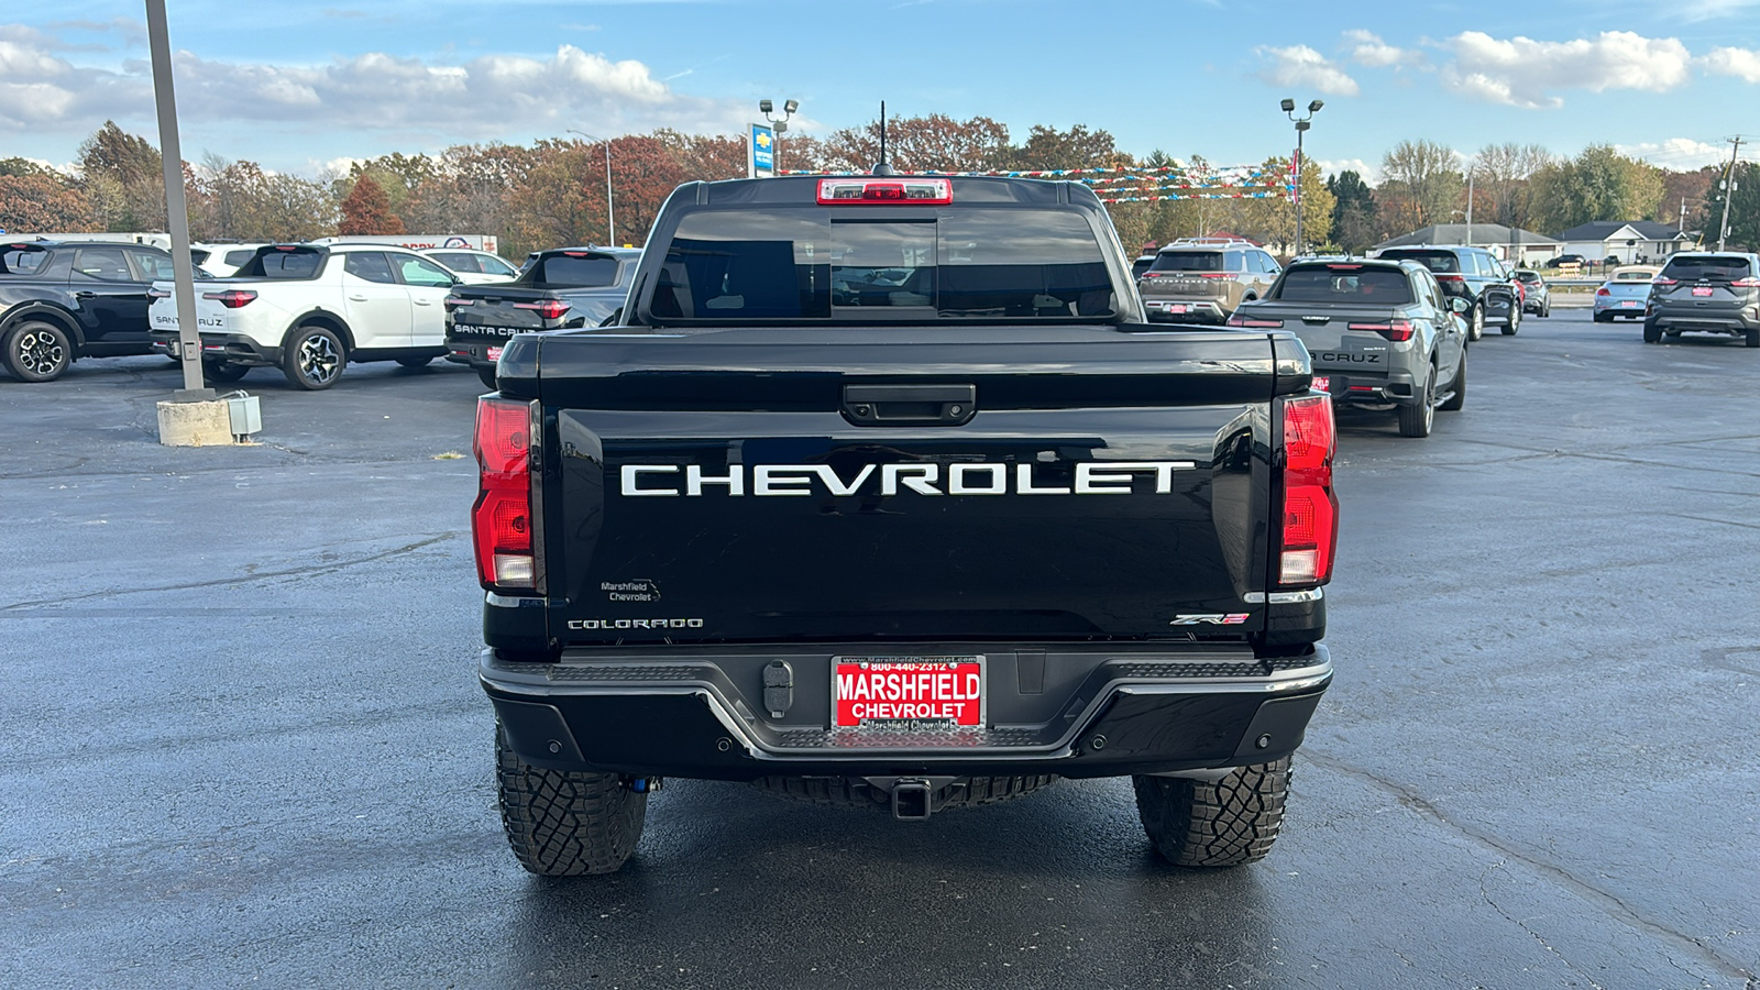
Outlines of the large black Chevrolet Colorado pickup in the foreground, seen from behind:
<svg viewBox="0 0 1760 990">
<path fill-rule="evenodd" d="M 1332 407 L 1285 331 L 1148 324 L 1093 192 L 679 187 L 627 312 L 519 335 L 472 511 L 503 824 L 623 865 L 664 777 L 924 819 L 1132 777 L 1258 860 L 1332 678 Z"/>
</svg>

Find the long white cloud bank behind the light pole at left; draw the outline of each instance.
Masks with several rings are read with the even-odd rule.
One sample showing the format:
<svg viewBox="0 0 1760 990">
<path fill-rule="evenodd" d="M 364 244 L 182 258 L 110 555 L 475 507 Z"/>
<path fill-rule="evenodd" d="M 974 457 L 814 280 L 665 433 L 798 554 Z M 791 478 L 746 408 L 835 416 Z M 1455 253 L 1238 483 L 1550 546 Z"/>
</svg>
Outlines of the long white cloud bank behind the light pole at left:
<svg viewBox="0 0 1760 990">
<path fill-rule="evenodd" d="M 90 132 L 106 118 L 151 127 L 151 67 L 79 67 L 30 28 L 0 26 L 0 137 L 9 132 Z M 231 123 L 333 136 L 366 132 L 400 141 L 509 139 L 644 132 L 655 127 L 736 132 L 744 104 L 683 95 L 634 60 L 612 62 L 572 44 L 549 58 L 486 55 L 436 63 L 368 53 L 326 65 L 213 62 L 176 53 L 178 109 L 187 148 L 215 143 Z M 216 148 L 225 151 L 225 148 Z"/>
</svg>

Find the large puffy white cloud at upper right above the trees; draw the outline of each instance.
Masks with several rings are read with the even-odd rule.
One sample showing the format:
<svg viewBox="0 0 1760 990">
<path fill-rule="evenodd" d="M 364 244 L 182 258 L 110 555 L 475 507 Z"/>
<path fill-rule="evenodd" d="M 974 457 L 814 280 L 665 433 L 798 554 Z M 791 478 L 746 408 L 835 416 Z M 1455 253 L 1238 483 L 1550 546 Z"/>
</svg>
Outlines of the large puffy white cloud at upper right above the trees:
<svg viewBox="0 0 1760 990">
<path fill-rule="evenodd" d="M 1448 39 L 1454 63 L 1443 83 L 1473 99 L 1519 107 L 1561 107 L 1558 90 L 1667 92 L 1688 79 L 1691 53 L 1677 39 L 1602 32 L 1595 39 L 1494 39 L 1464 32 Z"/>
</svg>

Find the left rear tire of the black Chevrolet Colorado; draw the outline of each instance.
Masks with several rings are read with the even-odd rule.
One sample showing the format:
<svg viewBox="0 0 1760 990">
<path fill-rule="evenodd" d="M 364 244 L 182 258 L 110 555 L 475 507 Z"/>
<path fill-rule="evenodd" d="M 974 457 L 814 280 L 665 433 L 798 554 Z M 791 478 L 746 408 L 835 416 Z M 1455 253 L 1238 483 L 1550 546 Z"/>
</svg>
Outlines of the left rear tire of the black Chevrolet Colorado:
<svg viewBox="0 0 1760 990">
<path fill-rule="evenodd" d="M 642 837 L 646 793 L 630 791 L 616 773 L 532 766 L 509 749 L 500 726 L 495 777 L 507 844 L 533 874 L 614 874 Z"/>
</svg>

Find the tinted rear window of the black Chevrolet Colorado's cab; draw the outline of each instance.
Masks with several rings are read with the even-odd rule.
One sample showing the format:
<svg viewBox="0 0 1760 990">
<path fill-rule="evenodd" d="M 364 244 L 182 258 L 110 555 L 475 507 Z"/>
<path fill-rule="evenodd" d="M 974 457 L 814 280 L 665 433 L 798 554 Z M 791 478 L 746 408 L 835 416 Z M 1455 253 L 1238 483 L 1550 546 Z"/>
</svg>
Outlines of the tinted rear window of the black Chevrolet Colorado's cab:
<svg viewBox="0 0 1760 990">
<path fill-rule="evenodd" d="M 935 218 L 702 210 L 667 245 L 658 321 L 1114 315 L 1105 254 L 1063 210 Z"/>
</svg>

